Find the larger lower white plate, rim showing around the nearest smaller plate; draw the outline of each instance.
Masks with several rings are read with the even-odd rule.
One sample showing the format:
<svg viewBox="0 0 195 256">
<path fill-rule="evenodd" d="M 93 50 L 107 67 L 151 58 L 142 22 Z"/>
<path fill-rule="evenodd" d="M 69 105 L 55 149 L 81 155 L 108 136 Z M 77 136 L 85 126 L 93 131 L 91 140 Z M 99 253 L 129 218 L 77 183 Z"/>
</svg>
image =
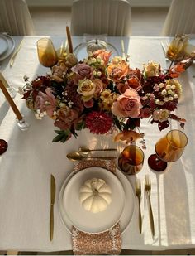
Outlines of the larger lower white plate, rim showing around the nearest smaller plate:
<svg viewBox="0 0 195 256">
<path fill-rule="evenodd" d="M 130 181 L 126 178 L 126 176 L 116 169 L 117 178 L 121 182 L 121 185 L 123 186 L 124 192 L 125 192 L 125 206 L 123 209 L 123 212 L 120 217 L 120 228 L 121 228 L 121 234 L 125 232 L 128 225 L 131 223 L 131 219 L 134 213 L 135 209 L 135 194 L 134 190 L 131 186 Z M 61 217 L 61 220 L 65 226 L 65 228 L 69 231 L 70 234 L 72 234 L 73 225 L 71 221 L 69 220 L 68 216 L 65 213 L 64 206 L 62 203 L 63 195 L 64 195 L 64 188 L 69 183 L 69 180 L 74 176 L 74 172 L 71 172 L 69 176 L 64 181 L 63 186 L 61 187 L 61 190 L 59 192 L 59 215 Z"/>
</svg>

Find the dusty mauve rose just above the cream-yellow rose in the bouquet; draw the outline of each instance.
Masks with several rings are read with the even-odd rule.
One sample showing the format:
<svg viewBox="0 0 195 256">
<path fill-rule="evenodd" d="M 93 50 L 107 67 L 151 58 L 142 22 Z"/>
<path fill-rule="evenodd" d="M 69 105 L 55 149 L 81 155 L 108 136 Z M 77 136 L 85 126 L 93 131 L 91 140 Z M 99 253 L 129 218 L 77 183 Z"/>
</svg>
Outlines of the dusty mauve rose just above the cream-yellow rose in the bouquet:
<svg viewBox="0 0 195 256">
<path fill-rule="evenodd" d="M 77 80 L 91 79 L 93 77 L 93 68 L 85 63 L 78 63 L 71 69 L 77 75 Z"/>
</svg>

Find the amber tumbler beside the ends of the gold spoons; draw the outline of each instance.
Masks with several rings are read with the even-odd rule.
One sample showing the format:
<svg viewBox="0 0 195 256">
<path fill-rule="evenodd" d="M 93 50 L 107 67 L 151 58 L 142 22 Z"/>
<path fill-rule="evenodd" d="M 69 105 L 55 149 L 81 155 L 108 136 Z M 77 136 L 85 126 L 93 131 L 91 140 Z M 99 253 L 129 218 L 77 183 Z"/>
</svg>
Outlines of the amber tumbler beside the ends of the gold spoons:
<svg viewBox="0 0 195 256">
<path fill-rule="evenodd" d="M 127 175 L 136 174 L 143 167 L 144 158 L 144 152 L 140 147 L 127 146 L 118 157 L 118 167 Z"/>
</svg>

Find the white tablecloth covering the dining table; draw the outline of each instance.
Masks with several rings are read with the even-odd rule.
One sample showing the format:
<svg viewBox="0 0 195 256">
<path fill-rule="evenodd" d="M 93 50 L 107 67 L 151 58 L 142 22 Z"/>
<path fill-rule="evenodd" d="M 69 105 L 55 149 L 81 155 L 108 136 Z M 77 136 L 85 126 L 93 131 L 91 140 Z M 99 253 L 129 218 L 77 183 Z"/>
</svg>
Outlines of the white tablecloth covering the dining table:
<svg viewBox="0 0 195 256">
<path fill-rule="evenodd" d="M 25 85 L 24 75 L 34 80 L 38 75 L 50 74 L 50 68 L 42 66 L 37 56 L 36 42 L 41 37 L 50 37 L 55 49 L 60 49 L 66 36 L 12 36 L 15 49 L 22 45 L 9 65 L 11 56 L 0 62 L 0 71 L 8 85 L 18 90 Z M 78 60 L 86 57 L 82 48 L 86 40 L 83 36 L 72 36 L 74 48 L 79 50 Z M 113 54 L 122 55 L 121 40 L 128 55 L 131 68 L 143 68 L 149 60 L 158 62 L 162 69 L 169 66 L 164 56 L 162 41 L 169 37 L 160 36 L 107 36 Z M 195 45 L 195 38 L 190 39 Z M 81 48 L 79 48 L 81 46 Z M 79 49 L 78 49 L 79 48 Z M 183 86 L 183 94 L 175 110 L 179 117 L 186 119 L 184 133 L 188 145 L 177 162 L 168 163 L 162 173 L 151 171 L 148 157 L 155 153 L 155 142 L 170 129 L 181 129 L 179 123 L 172 121 L 170 127 L 159 131 L 150 119 L 141 120 L 140 132 L 145 133 L 144 165 L 136 175 L 126 175 L 135 191 L 136 178 L 141 181 L 140 207 L 142 213 L 142 233 L 139 230 L 138 200 L 134 194 L 133 215 L 122 233 L 122 249 L 167 250 L 190 249 L 195 247 L 195 64 L 192 63 L 178 77 Z M 88 129 L 78 132 L 78 138 L 67 142 L 52 142 L 55 137 L 54 120 L 42 118 L 26 107 L 21 94 L 13 99 L 21 114 L 29 123 L 26 131 L 17 126 L 17 118 L 0 91 L 0 139 L 8 143 L 7 152 L 0 156 L 0 250 L 54 252 L 72 250 L 72 237 L 59 213 L 59 192 L 65 179 L 73 171 L 74 163 L 66 155 L 81 146 L 90 148 L 117 148 L 119 152 L 126 147 L 124 143 L 114 142 L 112 134 L 94 135 Z M 54 205 L 54 237 L 50 241 L 50 175 L 55 176 L 56 193 Z M 155 236 L 151 234 L 150 219 L 146 206 L 145 175 L 151 178 L 151 205 L 154 215 Z M 130 210 L 131 211 L 131 210 Z M 128 215 L 128 213 L 127 213 Z"/>
</svg>

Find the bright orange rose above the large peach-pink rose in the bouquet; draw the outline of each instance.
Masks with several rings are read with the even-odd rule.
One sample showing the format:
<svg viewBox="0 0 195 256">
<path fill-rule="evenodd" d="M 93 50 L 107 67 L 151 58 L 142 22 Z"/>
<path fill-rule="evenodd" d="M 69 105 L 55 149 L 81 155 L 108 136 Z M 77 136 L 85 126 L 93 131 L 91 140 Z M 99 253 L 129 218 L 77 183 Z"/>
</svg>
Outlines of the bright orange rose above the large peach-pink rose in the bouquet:
<svg viewBox="0 0 195 256">
<path fill-rule="evenodd" d="M 114 82 L 120 82 L 129 74 L 129 65 L 125 60 L 121 60 L 117 64 L 107 66 L 107 76 Z"/>
</svg>

